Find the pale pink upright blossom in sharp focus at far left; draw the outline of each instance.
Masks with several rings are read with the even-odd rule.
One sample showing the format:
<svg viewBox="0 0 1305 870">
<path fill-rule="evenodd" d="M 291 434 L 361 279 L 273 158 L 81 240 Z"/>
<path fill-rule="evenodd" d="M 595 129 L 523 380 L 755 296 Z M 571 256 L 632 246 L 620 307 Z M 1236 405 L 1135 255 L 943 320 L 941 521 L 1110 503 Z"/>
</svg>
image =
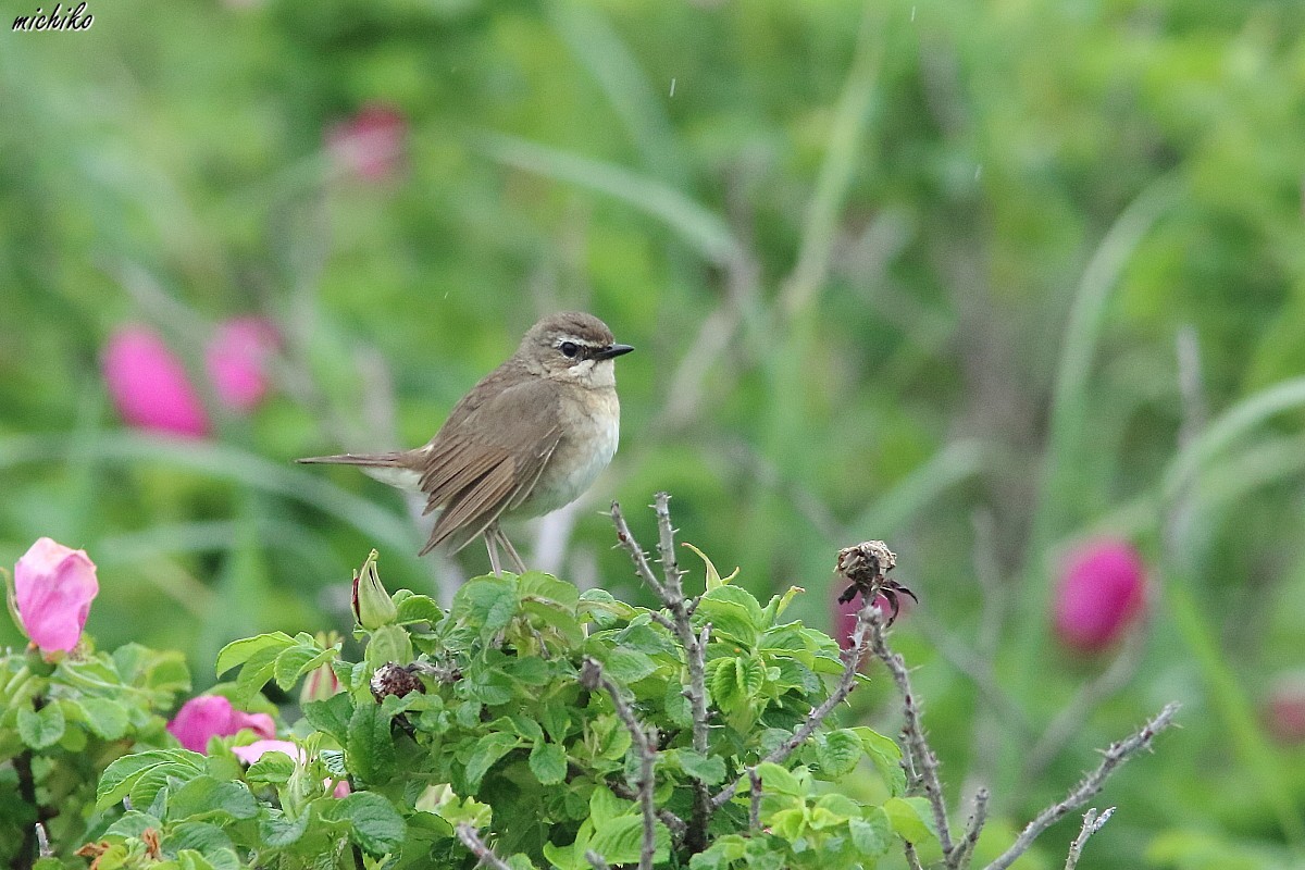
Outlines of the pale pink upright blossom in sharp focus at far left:
<svg viewBox="0 0 1305 870">
<path fill-rule="evenodd" d="M 22 630 L 46 652 L 77 646 L 99 593 L 95 563 L 48 537 L 39 539 L 13 566 L 14 604 Z"/>
</svg>

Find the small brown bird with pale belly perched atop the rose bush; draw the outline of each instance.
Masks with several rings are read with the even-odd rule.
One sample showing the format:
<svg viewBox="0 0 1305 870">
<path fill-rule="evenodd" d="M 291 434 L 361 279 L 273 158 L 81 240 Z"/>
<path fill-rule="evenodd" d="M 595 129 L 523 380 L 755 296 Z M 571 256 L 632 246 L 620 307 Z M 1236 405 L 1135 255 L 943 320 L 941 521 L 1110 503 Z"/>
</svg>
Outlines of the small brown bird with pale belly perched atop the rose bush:
<svg viewBox="0 0 1305 870">
<path fill-rule="evenodd" d="M 621 421 L 612 360 L 633 350 L 592 314 L 549 314 L 453 406 L 425 446 L 299 462 L 363 466 L 378 480 L 423 493 L 424 513 L 440 517 L 422 556 L 441 544 L 455 553 L 484 535 L 495 574 L 499 544 L 525 571 L 499 520 L 540 517 L 576 501 L 612 460 Z"/>
</svg>

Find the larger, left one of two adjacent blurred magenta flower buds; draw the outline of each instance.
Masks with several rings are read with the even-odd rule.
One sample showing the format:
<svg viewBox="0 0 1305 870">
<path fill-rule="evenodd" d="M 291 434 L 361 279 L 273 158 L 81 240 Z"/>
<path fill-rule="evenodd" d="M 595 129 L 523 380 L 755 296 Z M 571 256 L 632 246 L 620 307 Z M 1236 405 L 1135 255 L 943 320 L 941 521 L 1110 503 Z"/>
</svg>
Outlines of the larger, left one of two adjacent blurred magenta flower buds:
<svg viewBox="0 0 1305 870">
<path fill-rule="evenodd" d="M 185 367 L 153 330 L 125 326 L 114 333 L 104 348 L 103 372 L 128 425 L 191 437 L 209 433 L 209 417 Z"/>
</svg>

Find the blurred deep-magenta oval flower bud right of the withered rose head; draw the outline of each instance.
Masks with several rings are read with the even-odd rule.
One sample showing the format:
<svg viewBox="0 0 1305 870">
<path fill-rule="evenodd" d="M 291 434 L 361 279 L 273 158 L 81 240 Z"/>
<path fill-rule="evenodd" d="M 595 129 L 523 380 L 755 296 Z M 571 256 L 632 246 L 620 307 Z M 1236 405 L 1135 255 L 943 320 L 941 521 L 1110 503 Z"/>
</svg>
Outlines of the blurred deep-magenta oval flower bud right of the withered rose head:
<svg viewBox="0 0 1305 870">
<path fill-rule="evenodd" d="M 1126 541 L 1099 540 L 1069 556 L 1056 588 L 1056 634 L 1078 652 L 1099 652 L 1146 612 L 1146 567 Z"/>
</svg>

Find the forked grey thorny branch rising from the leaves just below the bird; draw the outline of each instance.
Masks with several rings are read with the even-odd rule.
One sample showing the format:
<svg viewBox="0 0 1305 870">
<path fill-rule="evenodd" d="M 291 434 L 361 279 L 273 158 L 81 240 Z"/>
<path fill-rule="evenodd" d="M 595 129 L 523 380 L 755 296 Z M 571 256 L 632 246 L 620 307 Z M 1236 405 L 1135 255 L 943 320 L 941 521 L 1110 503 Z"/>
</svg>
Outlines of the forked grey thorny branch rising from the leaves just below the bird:
<svg viewBox="0 0 1305 870">
<path fill-rule="evenodd" d="M 689 672 L 689 686 L 685 695 L 689 699 L 689 712 L 693 720 L 693 751 L 706 755 L 707 729 L 710 727 L 706 652 L 710 625 L 703 626 L 697 634 L 693 631 L 692 617 L 698 603 L 697 599 L 690 601 L 684 596 L 684 573 L 680 571 L 675 558 L 675 528 L 671 526 L 669 500 L 671 497 L 662 492 L 656 494 L 654 503 L 658 518 L 658 553 L 662 560 L 664 580 L 659 580 L 652 573 L 647 554 L 634 540 L 630 527 L 621 514 L 621 506 L 615 501 L 612 502 L 612 522 L 616 524 L 616 539 L 620 547 L 634 561 L 634 571 L 649 584 L 649 588 L 656 592 L 662 604 L 671 613 L 671 627 L 680 640 L 680 646 L 684 647 L 685 668 Z M 706 848 L 707 819 L 710 819 L 713 809 L 707 784 L 694 777 L 693 815 L 685 832 L 685 845 L 692 853 Z"/>
</svg>

